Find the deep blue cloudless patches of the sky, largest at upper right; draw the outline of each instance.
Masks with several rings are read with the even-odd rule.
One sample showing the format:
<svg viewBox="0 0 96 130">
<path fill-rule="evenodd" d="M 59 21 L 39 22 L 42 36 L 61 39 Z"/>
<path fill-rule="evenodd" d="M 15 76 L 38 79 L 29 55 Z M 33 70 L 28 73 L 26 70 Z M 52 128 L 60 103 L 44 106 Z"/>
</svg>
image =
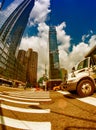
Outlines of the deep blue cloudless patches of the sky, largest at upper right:
<svg viewBox="0 0 96 130">
<path fill-rule="evenodd" d="M 0 0 L 2 2 L 3 0 Z M 5 9 L 14 0 L 5 0 Z M 50 0 L 51 13 L 47 24 L 59 25 L 66 23 L 65 31 L 71 36 L 71 43 L 78 44 L 83 35 L 96 34 L 96 0 Z M 29 35 L 37 35 L 37 31 L 27 29 Z M 90 36 L 88 38 L 90 38 Z M 86 42 L 88 40 L 86 38 Z"/>
</svg>

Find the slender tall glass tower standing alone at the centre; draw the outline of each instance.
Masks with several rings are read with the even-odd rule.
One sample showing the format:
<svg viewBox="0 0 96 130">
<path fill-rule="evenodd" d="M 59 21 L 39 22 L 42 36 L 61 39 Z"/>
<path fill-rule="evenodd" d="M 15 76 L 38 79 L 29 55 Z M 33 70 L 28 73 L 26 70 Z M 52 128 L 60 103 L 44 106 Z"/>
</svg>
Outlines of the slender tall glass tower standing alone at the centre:
<svg viewBox="0 0 96 130">
<path fill-rule="evenodd" d="M 60 79 L 57 32 L 54 26 L 49 27 L 49 66 L 49 78 Z"/>
</svg>

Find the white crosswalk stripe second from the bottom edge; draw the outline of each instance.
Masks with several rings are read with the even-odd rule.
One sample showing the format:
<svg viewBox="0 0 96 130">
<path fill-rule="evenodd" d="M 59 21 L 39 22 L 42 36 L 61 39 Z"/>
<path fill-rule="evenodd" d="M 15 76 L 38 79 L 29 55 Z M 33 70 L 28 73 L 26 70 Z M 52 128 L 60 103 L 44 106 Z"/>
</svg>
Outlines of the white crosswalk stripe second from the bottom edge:
<svg viewBox="0 0 96 130">
<path fill-rule="evenodd" d="M 5 104 L 1 104 L 0 107 L 12 111 L 25 112 L 25 113 L 50 113 L 50 109 L 29 109 L 29 108 L 8 106 Z"/>
</svg>

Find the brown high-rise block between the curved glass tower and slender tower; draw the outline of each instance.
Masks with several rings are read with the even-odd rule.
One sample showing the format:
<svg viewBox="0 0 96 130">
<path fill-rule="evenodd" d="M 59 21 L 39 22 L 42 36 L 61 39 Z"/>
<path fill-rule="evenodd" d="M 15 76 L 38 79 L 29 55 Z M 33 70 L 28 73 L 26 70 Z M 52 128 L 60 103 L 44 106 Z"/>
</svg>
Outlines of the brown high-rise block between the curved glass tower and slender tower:
<svg viewBox="0 0 96 130">
<path fill-rule="evenodd" d="M 27 51 L 19 50 L 17 59 L 25 66 L 26 81 L 35 86 L 37 83 L 38 53 L 31 48 Z"/>
</svg>

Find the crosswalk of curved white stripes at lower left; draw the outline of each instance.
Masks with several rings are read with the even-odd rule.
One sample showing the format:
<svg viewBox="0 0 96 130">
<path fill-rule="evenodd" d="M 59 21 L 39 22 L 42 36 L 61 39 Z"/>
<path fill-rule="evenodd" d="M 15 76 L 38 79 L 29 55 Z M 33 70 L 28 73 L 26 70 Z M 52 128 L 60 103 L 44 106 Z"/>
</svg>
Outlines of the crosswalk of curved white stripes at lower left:
<svg viewBox="0 0 96 130">
<path fill-rule="evenodd" d="M 31 92 L 31 91 L 16 91 L 0 93 L 0 125 L 12 127 L 22 130 L 51 130 L 50 122 L 32 121 L 18 119 L 14 115 L 17 113 L 24 115 L 47 114 L 50 109 L 39 109 L 41 101 L 51 101 L 49 92 Z M 30 108 L 28 106 L 32 106 Z M 24 107 L 23 107 L 24 106 Z M 38 109 L 35 107 L 38 106 Z M 3 112 L 5 111 L 5 113 Z M 11 113 L 8 115 L 8 112 Z M 3 113 L 3 114 L 2 114 Z M 15 113 L 15 114 L 13 114 Z M 1 127 L 2 128 L 2 127 Z M 2 129 L 3 130 L 3 129 Z"/>
</svg>

